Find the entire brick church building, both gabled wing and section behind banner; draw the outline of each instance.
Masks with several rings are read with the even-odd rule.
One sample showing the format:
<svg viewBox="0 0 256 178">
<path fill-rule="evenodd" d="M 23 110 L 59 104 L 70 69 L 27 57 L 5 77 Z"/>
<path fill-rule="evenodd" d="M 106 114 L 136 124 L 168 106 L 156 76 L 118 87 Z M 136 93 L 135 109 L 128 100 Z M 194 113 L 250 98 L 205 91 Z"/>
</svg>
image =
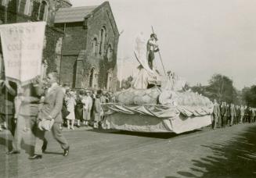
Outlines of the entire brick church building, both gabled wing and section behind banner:
<svg viewBox="0 0 256 178">
<path fill-rule="evenodd" d="M 71 6 L 70 0 L 0 0 L 0 25 L 45 21 L 42 77 L 57 71 L 59 84 L 116 91 L 119 32 L 110 3 Z"/>
</svg>

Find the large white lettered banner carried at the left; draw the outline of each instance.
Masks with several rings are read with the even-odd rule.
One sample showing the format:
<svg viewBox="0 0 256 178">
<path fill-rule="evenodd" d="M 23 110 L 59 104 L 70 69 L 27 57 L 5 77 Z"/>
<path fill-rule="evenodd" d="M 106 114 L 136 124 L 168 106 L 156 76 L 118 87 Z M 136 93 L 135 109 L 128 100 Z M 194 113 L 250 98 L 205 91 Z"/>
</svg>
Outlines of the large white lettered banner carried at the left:
<svg viewBox="0 0 256 178">
<path fill-rule="evenodd" d="M 5 77 L 27 84 L 41 75 L 45 22 L 0 25 Z"/>
</svg>

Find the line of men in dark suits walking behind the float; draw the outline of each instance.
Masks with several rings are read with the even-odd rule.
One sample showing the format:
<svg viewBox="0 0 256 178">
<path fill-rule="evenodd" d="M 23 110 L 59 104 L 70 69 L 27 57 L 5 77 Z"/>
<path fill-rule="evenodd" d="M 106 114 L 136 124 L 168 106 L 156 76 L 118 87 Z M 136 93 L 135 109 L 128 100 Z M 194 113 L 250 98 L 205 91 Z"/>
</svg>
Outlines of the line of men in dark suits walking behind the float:
<svg viewBox="0 0 256 178">
<path fill-rule="evenodd" d="M 212 127 L 233 126 L 239 123 L 254 123 L 256 121 L 256 109 L 247 105 L 234 105 L 222 101 L 219 105 L 217 100 L 214 100 Z"/>
</svg>

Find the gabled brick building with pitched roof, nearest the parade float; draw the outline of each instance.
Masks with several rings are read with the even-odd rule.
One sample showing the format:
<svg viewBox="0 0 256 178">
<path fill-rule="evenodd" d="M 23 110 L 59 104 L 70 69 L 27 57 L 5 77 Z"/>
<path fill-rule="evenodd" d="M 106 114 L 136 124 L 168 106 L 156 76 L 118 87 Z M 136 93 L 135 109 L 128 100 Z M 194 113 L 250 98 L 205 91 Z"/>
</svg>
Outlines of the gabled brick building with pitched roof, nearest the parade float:
<svg viewBox="0 0 256 178">
<path fill-rule="evenodd" d="M 54 23 L 65 33 L 60 83 L 116 91 L 119 33 L 109 2 L 61 8 Z"/>
</svg>

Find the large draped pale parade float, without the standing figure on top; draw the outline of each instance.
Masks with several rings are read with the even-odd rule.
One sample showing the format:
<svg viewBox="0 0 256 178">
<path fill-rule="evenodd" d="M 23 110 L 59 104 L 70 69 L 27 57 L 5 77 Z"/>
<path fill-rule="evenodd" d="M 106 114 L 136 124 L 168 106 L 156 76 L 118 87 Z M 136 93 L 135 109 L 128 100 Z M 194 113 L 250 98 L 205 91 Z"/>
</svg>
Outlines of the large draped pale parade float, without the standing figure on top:
<svg viewBox="0 0 256 178">
<path fill-rule="evenodd" d="M 115 95 L 115 102 L 103 105 L 104 123 L 109 129 L 151 133 L 183 133 L 211 124 L 212 102 L 193 91 L 184 90 L 184 80 L 168 72 L 161 76 L 150 69 L 140 38 L 135 59 L 139 73 L 132 86 Z M 149 88 L 150 87 L 150 88 Z"/>
</svg>

